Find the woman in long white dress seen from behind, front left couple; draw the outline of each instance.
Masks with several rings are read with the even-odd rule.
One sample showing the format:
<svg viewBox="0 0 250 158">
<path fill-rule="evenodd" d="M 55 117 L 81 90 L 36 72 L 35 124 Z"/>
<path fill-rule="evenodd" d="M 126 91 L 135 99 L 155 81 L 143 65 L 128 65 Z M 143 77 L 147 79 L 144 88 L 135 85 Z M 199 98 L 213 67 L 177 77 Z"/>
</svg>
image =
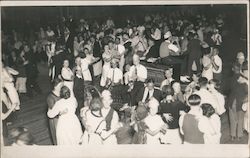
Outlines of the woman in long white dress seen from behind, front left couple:
<svg viewBox="0 0 250 158">
<path fill-rule="evenodd" d="M 69 88 L 63 86 L 60 91 L 61 99 L 47 113 L 49 118 L 59 115 L 56 127 L 58 145 L 78 145 L 83 134 L 81 123 L 75 114 L 77 101 L 70 95 L 71 91 Z"/>
</svg>

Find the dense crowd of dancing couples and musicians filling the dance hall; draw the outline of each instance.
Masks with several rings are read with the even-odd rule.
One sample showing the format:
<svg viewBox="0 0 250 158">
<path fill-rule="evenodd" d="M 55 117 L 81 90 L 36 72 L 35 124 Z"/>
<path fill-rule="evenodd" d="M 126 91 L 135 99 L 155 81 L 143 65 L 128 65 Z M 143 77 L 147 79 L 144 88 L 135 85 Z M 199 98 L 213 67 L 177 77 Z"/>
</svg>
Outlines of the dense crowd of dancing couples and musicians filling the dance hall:
<svg viewBox="0 0 250 158">
<path fill-rule="evenodd" d="M 239 52 L 225 101 L 219 55 L 225 16 L 181 10 L 126 19 L 123 27 L 111 17 L 100 23 L 69 16 L 41 27 L 33 43 L 15 31 L 3 34 L 2 102 L 9 111 L 2 119 L 22 108 L 20 95 L 42 93 L 43 62 L 53 87 L 47 116 L 54 145 L 220 144 L 226 109 L 231 138 L 241 139 L 248 132 L 248 63 Z M 173 78 L 168 67 L 157 87 L 142 61 L 179 61 L 181 76 Z"/>
</svg>

